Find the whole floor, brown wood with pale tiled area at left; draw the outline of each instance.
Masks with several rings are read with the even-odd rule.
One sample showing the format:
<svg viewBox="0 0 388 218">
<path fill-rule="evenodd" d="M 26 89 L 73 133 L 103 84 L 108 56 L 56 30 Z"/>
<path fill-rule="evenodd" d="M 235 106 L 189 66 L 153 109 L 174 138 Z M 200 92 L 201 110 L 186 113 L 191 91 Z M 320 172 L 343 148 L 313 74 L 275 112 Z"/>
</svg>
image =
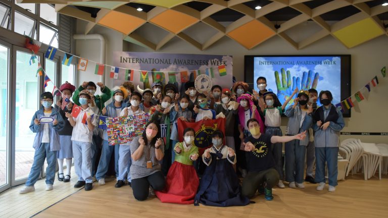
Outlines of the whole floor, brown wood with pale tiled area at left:
<svg viewBox="0 0 388 218">
<path fill-rule="evenodd" d="M 129 186 L 115 188 L 113 179 L 107 180 L 105 186 L 93 183 L 93 190 L 88 192 L 74 189 L 75 182 L 74 179 L 67 184 L 56 182 L 53 191 L 44 191 L 44 180 L 40 180 L 38 183 L 42 184 L 35 185 L 36 191 L 25 195 L 17 193 L 19 187 L 9 190 L 0 195 L 0 217 L 366 218 L 388 214 L 387 176 L 364 181 L 361 175 L 355 175 L 340 181 L 335 193 L 329 193 L 327 186 L 324 191 L 316 191 L 316 185 L 307 183 L 305 189 L 276 188 L 273 201 L 265 201 L 259 195 L 253 199 L 255 204 L 227 208 L 161 203 L 154 196 L 139 202 L 133 198 Z"/>
</svg>

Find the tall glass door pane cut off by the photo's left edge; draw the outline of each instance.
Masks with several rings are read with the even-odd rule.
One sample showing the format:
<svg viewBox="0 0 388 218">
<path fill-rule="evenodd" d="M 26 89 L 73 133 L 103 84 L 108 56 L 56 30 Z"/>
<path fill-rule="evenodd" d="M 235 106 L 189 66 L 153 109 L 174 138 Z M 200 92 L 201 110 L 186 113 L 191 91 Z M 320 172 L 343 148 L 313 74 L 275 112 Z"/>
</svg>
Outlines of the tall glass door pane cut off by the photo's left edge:
<svg viewBox="0 0 388 218">
<path fill-rule="evenodd" d="M 9 48 L 0 44 L 0 187 L 7 184 L 7 108 L 8 108 Z"/>
</svg>

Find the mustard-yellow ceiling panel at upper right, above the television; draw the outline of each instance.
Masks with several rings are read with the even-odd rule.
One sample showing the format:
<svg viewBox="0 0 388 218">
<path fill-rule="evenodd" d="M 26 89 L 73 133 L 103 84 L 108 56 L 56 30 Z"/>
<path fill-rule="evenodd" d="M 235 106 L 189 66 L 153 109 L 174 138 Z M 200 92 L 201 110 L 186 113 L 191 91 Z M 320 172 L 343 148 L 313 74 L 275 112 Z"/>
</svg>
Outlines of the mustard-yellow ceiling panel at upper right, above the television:
<svg viewBox="0 0 388 218">
<path fill-rule="evenodd" d="M 333 34 L 348 48 L 351 48 L 380 36 L 384 34 L 384 32 L 371 18 L 367 18 L 337 30 L 333 32 Z"/>
</svg>

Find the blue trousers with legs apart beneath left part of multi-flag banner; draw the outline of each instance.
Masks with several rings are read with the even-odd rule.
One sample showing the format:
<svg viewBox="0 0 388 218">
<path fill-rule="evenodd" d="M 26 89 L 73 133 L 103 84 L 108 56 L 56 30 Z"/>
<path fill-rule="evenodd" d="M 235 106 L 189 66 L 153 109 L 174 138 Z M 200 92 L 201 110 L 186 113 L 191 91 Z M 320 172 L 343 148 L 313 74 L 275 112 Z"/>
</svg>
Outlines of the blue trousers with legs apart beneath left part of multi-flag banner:
<svg viewBox="0 0 388 218">
<path fill-rule="evenodd" d="M 101 151 L 99 167 L 97 168 L 97 173 L 95 173 L 95 178 L 97 180 L 105 178 L 105 174 L 108 172 L 109 162 L 111 161 L 113 152 L 115 153 L 116 177 L 119 176 L 119 146 L 119 144 L 109 145 L 107 140 L 103 140 L 103 150 Z"/>
</svg>

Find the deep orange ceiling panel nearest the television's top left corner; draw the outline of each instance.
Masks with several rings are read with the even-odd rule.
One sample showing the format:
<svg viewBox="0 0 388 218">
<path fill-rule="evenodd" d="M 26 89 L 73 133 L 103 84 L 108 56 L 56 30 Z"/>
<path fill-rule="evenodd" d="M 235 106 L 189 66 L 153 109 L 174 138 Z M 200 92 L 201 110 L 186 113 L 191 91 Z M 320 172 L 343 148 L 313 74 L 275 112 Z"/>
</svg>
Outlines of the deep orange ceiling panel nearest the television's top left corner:
<svg viewBox="0 0 388 218">
<path fill-rule="evenodd" d="M 258 20 L 252 20 L 227 34 L 247 49 L 251 49 L 275 35 L 275 32 Z"/>
</svg>

